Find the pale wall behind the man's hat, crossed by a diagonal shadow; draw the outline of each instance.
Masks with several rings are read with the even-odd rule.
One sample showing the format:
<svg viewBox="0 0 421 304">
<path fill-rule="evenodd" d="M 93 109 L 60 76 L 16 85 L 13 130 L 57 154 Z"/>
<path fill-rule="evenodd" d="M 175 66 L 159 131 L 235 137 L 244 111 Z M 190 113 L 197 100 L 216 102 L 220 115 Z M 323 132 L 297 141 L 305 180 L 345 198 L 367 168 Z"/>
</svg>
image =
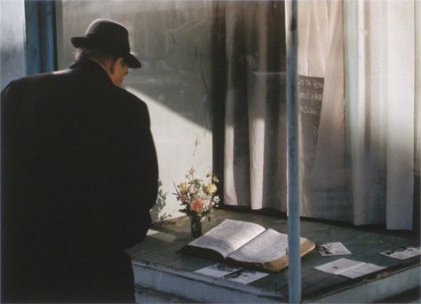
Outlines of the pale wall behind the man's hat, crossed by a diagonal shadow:
<svg viewBox="0 0 421 304">
<path fill-rule="evenodd" d="M 193 165 L 198 177 L 212 170 L 211 1 L 71 1 L 58 7 L 59 66 L 73 61 L 71 36 L 83 36 L 92 20 L 123 23 L 142 62 L 124 87 L 147 103 L 162 186 L 154 220 L 178 212 L 174 182 Z"/>
</svg>

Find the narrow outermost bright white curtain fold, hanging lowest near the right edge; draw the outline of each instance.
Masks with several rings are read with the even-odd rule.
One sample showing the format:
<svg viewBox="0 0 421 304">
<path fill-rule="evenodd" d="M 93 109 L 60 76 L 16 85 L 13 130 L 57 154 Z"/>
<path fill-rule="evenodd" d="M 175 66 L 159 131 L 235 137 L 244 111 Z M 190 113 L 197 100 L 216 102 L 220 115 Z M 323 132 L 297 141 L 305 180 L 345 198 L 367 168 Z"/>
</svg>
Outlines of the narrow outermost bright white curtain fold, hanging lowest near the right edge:
<svg viewBox="0 0 421 304">
<path fill-rule="evenodd" d="M 415 161 L 415 1 L 386 5 L 386 224 L 412 228 Z M 402 22 L 405 20 L 405 22 Z M 405 54 L 402 56 L 402 54 Z M 397 60 L 399 59 L 399 60 Z"/>
</svg>

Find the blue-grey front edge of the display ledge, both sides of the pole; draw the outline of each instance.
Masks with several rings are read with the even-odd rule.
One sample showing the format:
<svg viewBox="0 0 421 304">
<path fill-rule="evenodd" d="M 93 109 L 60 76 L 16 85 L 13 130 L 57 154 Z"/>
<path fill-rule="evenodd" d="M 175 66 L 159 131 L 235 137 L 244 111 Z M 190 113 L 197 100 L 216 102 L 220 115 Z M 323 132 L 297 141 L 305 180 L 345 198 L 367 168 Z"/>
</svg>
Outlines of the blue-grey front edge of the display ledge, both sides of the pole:
<svg viewBox="0 0 421 304">
<path fill-rule="evenodd" d="M 132 262 L 139 303 L 288 303 L 285 296 L 252 285 L 238 284 L 163 265 Z M 421 266 L 366 276 L 354 284 L 332 286 L 329 291 L 306 295 L 303 303 L 367 303 L 413 290 L 420 285 Z"/>
</svg>

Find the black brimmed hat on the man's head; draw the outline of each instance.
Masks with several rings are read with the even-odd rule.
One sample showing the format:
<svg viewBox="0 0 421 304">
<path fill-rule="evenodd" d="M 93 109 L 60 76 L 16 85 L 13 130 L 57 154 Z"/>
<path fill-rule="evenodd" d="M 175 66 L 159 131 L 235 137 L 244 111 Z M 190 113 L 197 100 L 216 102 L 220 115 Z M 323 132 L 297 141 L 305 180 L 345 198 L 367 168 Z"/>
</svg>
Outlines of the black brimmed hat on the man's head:
<svg viewBox="0 0 421 304">
<path fill-rule="evenodd" d="M 140 61 L 130 52 L 129 31 L 112 20 L 94 20 L 83 37 L 72 37 L 77 47 L 92 47 L 123 58 L 129 68 L 140 68 Z"/>
</svg>

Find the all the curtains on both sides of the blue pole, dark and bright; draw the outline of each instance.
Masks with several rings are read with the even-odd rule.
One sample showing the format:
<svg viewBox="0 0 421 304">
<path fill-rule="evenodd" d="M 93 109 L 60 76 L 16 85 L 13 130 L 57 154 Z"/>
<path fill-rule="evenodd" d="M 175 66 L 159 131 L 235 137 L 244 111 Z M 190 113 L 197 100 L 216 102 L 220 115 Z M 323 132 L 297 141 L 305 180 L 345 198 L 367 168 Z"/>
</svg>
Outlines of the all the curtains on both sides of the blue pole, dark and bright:
<svg viewBox="0 0 421 304">
<path fill-rule="evenodd" d="M 226 3 L 225 204 L 287 211 L 283 5 Z M 416 0 L 298 2 L 302 216 L 412 228 L 419 8 Z"/>
</svg>

